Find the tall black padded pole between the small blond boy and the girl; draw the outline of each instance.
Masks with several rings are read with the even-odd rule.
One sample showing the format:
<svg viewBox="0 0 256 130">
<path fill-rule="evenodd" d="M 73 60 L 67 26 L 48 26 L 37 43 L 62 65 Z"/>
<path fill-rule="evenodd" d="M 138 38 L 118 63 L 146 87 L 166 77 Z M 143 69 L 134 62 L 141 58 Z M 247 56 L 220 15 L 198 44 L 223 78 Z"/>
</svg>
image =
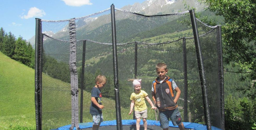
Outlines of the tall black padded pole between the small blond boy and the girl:
<svg viewBox="0 0 256 130">
<path fill-rule="evenodd" d="M 123 130 L 121 107 L 119 98 L 119 84 L 118 84 L 118 66 L 117 66 L 117 39 L 115 31 L 115 6 L 111 6 L 111 23 L 112 23 L 112 45 L 113 45 L 113 68 L 114 68 L 114 85 L 115 85 L 115 110 L 117 117 L 117 130 Z"/>
</svg>

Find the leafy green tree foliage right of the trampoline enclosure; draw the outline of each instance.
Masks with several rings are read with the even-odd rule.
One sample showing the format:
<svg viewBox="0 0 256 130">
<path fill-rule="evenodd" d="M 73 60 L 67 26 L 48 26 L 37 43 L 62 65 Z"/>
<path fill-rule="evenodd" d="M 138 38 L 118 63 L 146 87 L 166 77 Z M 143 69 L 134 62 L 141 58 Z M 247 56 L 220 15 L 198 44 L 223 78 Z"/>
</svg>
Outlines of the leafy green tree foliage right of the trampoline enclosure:
<svg viewBox="0 0 256 130">
<path fill-rule="evenodd" d="M 223 58 L 225 63 L 230 64 L 225 69 L 232 71 L 232 68 L 239 67 L 232 72 L 242 74 L 236 84 L 232 85 L 231 83 L 234 80 L 234 74 L 230 75 L 232 79 L 230 79 L 231 77 L 226 78 L 225 81 L 226 87 L 229 87 L 230 90 L 237 90 L 237 92 L 232 92 L 225 89 L 225 94 L 230 94 L 225 98 L 225 128 L 250 129 L 255 123 L 256 1 L 199 1 L 208 5 L 207 10 L 224 18 L 222 25 Z M 248 79 L 251 83 L 248 82 Z M 241 82 L 244 82 L 245 85 L 241 85 Z M 234 93 L 239 94 L 234 95 Z"/>
</svg>

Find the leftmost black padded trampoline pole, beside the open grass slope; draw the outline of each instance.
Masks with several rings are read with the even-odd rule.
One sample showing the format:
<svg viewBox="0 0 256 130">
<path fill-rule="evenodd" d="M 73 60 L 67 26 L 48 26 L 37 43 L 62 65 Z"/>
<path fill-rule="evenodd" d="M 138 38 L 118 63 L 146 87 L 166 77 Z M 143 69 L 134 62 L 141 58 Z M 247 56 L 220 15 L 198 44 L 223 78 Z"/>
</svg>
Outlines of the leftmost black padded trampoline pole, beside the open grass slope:
<svg viewBox="0 0 256 130">
<path fill-rule="evenodd" d="M 36 18 L 36 50 L 35 50 L 35 107 L 36 107 L 36 130 L 42 129 L 42 22 Z"/>
</svg>

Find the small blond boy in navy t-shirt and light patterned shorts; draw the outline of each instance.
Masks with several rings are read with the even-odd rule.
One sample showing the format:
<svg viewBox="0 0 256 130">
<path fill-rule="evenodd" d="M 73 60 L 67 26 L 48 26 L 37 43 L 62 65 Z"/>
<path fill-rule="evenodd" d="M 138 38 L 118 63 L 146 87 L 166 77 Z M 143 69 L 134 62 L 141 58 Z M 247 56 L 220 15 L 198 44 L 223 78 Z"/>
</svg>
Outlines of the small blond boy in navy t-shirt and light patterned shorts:
<svg viewBox="0 0 256 130">
<path fill-rule="evenodd" d="M 101 122 L 103 121 L 102 109 L 104 108 L 101 105 L 102 95 L 101 89 L 107 83 L 107 78 L 103 75 L 98 75 L 95 79 L 95 86 L 91 91 L 91 107 L 90 114 L 92 115 L 92 129 L 98 130 Z"/>
</svg>

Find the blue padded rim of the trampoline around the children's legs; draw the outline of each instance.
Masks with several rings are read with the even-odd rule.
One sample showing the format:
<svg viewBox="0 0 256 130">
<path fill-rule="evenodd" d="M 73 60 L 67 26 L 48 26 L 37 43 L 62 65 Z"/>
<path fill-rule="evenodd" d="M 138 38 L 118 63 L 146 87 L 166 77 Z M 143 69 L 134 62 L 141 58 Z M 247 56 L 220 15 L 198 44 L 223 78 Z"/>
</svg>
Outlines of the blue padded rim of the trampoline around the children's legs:
<svg viewBox="0 0 256 130">
<path fill-rule="evenodd" d="M 202 129 L 207 129 L 206 125 L 202 125 L 202 124 L 198 124 L 198 123 L 191 123 L 191 122 L 183 122 L 184 127 L 187 129 L 194 129 L 194 130 L 202 130 Z M 112 120 L 112 121 L 103 121 L 101 122 L 100 126 L 116 126 L 117 125 L 117 121 L 116 120 Z M 136 125 L 136 120 L 122 120 L 122 125 Z M 143 121 L 141 120 L 140 125 L 143 125 Z M 147 120 L 147 125 L 155 125 L 155 126 L 160 126 L 160 122 L 159 121 L 155 121 L 155 120 Z M 71 127 L 71 125 L 66 125 L 66 126 L 62 126 L 56 129 L 51 129 L 51 130 L 68 130 Z M 92 127 L 92 122 L 86 122 L 86 123 L 79 123 L 79 127 L 80 129 L 84 129 L 84 128 L 91 128 Z M 176 127 L 178 128 L 178 126 L 173 126 L 172 122 L 169 121 L 169 127 Z M 76 130 L 76 128 L 74 128 L 73 130 Z M 220 128 L 214 127 L 212 126 L 212 130 L 221 130 Z"/>
</svg>

